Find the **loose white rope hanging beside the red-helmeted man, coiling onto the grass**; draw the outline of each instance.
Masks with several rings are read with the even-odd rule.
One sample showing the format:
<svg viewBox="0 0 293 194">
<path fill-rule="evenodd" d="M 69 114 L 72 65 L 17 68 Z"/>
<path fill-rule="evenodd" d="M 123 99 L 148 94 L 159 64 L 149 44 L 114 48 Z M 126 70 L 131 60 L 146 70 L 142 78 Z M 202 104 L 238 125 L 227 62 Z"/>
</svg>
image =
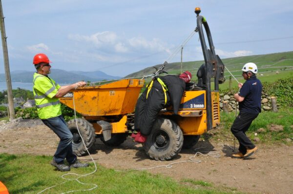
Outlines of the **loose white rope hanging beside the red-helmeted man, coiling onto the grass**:
<svg viewBox="0 0 293 194">
<path fill-rule="evenodd" d="M 81 136 L 81 139 L 82 139 L 82 141 L 83 141 L 83 143 L 84 143 L 84 138 L 83 138 L 83 136 L 81 135 L 81 133 L 80 133 L 80 131 L 79 131 L 79 128 L 78 128 L 78 125 L 77 125 L 77 121 L 76 121 L 76 111 L 75 111 L 74 93 L 73 93 L 73 108 L 74 108 L 74 117 L 75 117 L 75 123 L 76 123 L 77 131 L 78 131 L 79 135 Z M 87 150 L 87 147 L 85 146 L 85 143 L 84 143 L 84 147 L 85 147 L 85 149 L 86 149 L 87 154 L 90 156 L 91 160 L 93 161 L 93 163 L 94 163 L 94 165 L 95 165 L 95 170 L 94 170 L 93 172 L 88 173 L 88 174 L 85 174 L 85 175 L 79 175 L 79 174 L 76 174 L 76 173 L 67 173 L 67 174 L 65 174 L 65 175 L 62 175 L 61 178 L 65 179 L 66 181 L 64 181 L 64 182 L 62 182 L 62 183 L 59 183 L 59 184 L 57 184 L 57 185 L 53 185 L 53 186 L 51 186 L 51 187 L 48 187 L 48 188 L 42 190 L 41 192 L 39 192 L 38 194 L 41 194 L 42 192 L 44 192 L 44 191 L 46 191 L 46 190 L 49 190 L 49 189 L 51 189 L 51 188 L 53 188 L 53 187 L 56 187 L 56 186 L 62 185 L 62 184 L 66 183 L 66 182 L 68 182 L 68 181 L 71 181 L 71 180 L 75 180 L 75 181 L 79 182 L 79 183 L 82 184 L 82 185 L 92 185 L 93 187 L 90 188 L 90 189 L 84 189 L 84 190 L 72 190 L 72 191 L 64 192 L 64 193 L 62 193 L 62 194 L 68 194 L 68 193 L 73 193 L 73 192 L 78 192 L 78 191 L 91 191 L 91 190 L 94 190 L 94 189 L 96 189 L 96 188 L 98 187 L 98 185 L 96 185 L 96 184 L 93 184 L 93 183 L 83 183 L 83 182 L 81 182 L 81 181 L 79 180 L 79 178 L 81 178 L 81 177 L 84 177 L 84 176 L 87 176 L 87 175 L 91 175 L 91 174 L 94 174 L 95 172 L 97 172 L 97 165 L 96 165 L 96 163 L 95 163 L 93 157 L 89 154 L 89 152 L 88 152 L 88 150 Z M 67 175 L 77 175 L 78 177 L 77 177 L 77 178 L 66 178 L 65 176 L 67 176 Z"/>
</svg>

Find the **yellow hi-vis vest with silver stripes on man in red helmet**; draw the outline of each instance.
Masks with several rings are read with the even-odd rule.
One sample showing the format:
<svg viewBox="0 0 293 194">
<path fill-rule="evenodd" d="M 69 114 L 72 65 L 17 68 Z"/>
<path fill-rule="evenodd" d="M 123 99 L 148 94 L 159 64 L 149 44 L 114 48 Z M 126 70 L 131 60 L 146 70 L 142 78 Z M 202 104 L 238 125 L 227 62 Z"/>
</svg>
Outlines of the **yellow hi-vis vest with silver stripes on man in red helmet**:
<svg viewBox="0 0 293 194">
<path fill-rule="evenodd" d="M 38 115 L 41 119 L 48 119 L 61 115 L 61 104 L 55 95 L 61 88 L 53 79 L 35 73 L 33 92 L 35 96 Z"/>
</svg>

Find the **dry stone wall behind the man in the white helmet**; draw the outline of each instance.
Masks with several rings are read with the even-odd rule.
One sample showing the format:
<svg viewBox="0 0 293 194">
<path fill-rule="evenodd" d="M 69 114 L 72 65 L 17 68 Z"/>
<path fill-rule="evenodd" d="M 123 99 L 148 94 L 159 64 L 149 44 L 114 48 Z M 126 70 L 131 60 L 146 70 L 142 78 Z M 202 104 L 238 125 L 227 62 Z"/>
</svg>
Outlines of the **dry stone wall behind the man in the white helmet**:
<svg viewBox="0 0 293 194">
<path fill-rule="evenodd" d="M 262 92 L 261 93 L 261 108 L 263 111 L 271 111 L 272 110 L 272 102 L 271 102 L 271 97 Z M 238 102 L 236 102 L 234 98 L 234 94 L 232 92 L 228 92 L 226 94 L 220 93 L 220 109 L 223 111 L 223 102 L 227 101 L 228 102 L 228 111 L 231 112 L 233 110 L 238 109 Z"/>
</svg>

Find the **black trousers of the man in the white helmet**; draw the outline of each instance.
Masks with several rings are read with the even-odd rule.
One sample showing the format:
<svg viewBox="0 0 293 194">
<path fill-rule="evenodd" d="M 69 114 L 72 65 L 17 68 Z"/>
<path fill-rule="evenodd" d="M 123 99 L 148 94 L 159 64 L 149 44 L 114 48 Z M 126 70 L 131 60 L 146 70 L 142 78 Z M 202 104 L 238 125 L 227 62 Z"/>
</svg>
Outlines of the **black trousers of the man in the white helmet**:
<svg viewBox="0 0 293 194">
<path fill-rule="evenodd" d="M 243 155 L 246 154 L 247 148 L 253 149 L 255 145 L 251 142 L 251 140 L 246 136 L 245 132 L 249 129 L 251 122 L 258 116 L 258 114 L 251 114 L 241 112 L 235 118 L 233 125 L 231 126 L 232 134 L 239 141 L 239 152 Z"/>
</svg>

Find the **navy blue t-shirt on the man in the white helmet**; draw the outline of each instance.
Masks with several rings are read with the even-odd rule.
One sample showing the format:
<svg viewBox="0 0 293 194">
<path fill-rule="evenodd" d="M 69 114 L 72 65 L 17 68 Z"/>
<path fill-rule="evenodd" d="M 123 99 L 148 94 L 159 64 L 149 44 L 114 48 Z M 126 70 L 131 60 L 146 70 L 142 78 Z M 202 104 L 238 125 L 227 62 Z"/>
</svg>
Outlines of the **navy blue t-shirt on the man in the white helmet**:
<svg viewBox="0 0 293 194">
<path fill-rule="evenodd" d="M 244 100 L 239 102 L 239 111 L 253 114 L 260 113 L 261 90 L 262 84 L 255 76 L 246 80 L 239 93 L 240 97 L 244 97 Z"/>
</svg>

